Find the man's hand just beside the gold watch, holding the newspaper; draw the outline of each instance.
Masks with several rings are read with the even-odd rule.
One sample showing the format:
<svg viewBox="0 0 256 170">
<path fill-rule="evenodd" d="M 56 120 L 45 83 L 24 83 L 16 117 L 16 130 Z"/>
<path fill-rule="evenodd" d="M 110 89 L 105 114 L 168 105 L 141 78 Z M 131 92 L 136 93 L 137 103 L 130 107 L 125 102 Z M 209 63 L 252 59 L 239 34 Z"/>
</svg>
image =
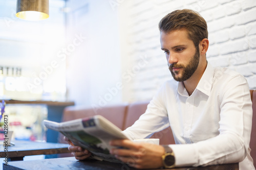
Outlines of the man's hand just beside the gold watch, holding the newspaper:
<svg viewBox="0 0 256 170">
<path fill-rule="evenodd" d="M 159 168 L 163 166 L 164 148 L 152 143 L 135 143 L 128 139 L 112 140 L 110 145 L 126 149 L 112 149 L 110 153 L 135 168 Z"/>
</svg>

